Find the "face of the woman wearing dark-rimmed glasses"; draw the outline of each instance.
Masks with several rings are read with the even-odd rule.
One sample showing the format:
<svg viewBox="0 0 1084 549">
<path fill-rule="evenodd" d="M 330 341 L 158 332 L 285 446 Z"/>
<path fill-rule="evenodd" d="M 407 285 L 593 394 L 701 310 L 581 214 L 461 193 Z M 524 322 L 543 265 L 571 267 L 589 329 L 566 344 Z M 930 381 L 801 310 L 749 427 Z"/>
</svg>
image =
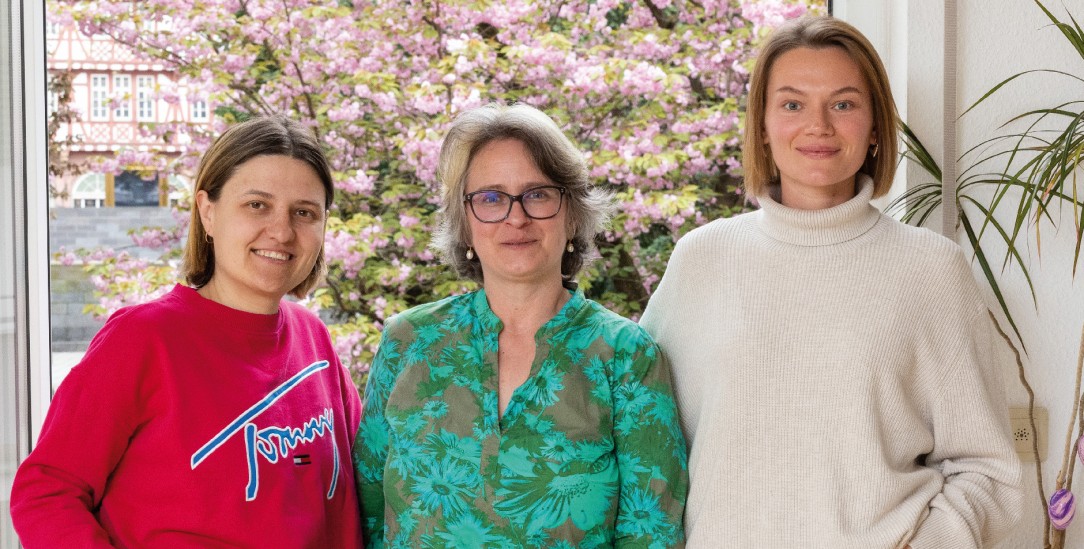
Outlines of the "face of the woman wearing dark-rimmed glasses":
<svg viewBox="0 0 1084 549">
<path fill-rule="evenodd" d="M 464 194 L 480 190 L 517 195 L 526 190 L 553 186 L 528 155 L 519 140 L 502 139 L 482 146 L 467 167 Z M 469 245 L 481 261 L 487 286 L 505 283 L 560 283 L 560 260 L 568 243 L 567 196 L 560 210 L 549 219 L 532 219 L 520 202 L 512 204 L 504 220 L 483 224 L 466 204 Z M 535 213 L 532 210 L 532 213 Z"/>
</svg>

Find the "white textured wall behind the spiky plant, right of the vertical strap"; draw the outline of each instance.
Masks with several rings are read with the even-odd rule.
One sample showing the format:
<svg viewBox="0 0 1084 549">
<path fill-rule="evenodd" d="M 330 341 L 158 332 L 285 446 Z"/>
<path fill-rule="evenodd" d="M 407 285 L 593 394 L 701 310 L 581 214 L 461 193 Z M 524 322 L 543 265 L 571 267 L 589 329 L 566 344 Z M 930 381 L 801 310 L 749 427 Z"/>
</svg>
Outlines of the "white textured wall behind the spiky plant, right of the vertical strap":
<svg viewBox="0 0 1084 549">
<path fill-rule="evenodd" d="M 1066 17 L 1066 7 L 1072 15 L 1084 16 L 1084 1 L 1044 2 L 1055 15 Z M 1055 68 L 1084 76 L 1084 62 L 1072 51 L 1057 28 L 1032 2 L 1021 0 L 968 0 L 959 2 L 957 47 L 957 87 L 960 108 L 966 108 L 1003 79 L 1032 68 Z M 1034 75 L 1034 78 L 1012 82 L 980 105 L 957 125 L 959 150 L 980 144 L 992 136 L 1002 135 L 999 126 L 1018 113 L 1036 107 L 1054 106 L 1070 100 L 1084 99 L 1084 85 L 1066 77 Z M 1077 106 L 1076 108 L 1080 108 Z M 1014 126 L 1019 128 L 1020 126 Z M 965 161 L 960 169 L 969 166 Z M 1082 174 L 1084 176 L 1084 174 Z M 1084 186 L 1081 187 L 1084 190 Z M 1011 218 L 1007 213 L 1001 218 Z M 1084 280 L 1073 280 L 1072 214 L 1069 208 L 1055 214 L 1064 228 L 1059 232 L 1048 222 L 1041 224 L 1021 241 L 1029 250 L 1029 263 L 1036 302 L 1032 302 L 1027 283 L 1018 269 L 1006 271 L 1001 281 L 1006 288 L 1010 310 L 1020 327 L 1028 355 L 1024 369 L 1035 391 L 1036 400 L 1050 414 L 1047 459 L 1043 462 L 1043 487 L 1049 498 L 1064 452 L 1066 435 L 1072 413 L 1081 330 L 1084 328 Z M 1041 240 L 1038 239 L 1041 238 Z M 996 241 L 991 250 L 1003 250 Z M 1084 269 L 1076 269 L 1084 274 Z M 989 295 L 994 303 L 992 294 Z M 1005 362 L 1011 362 L 1006 355 Z M 1027 394 L 1018 381 L 1016 368 L 1006 371 L 1006 386 L 1011 404 L 1023 405 Z M 1074 457 L 1070 456 L 1075 459 Z M 1084 476 L 1084 465 L 1077 463 L 1076 476 Z M 1041 547 L 1042 505 L 1035 471 L 1025 468 L 1028 514 L 1017 534 L 1003 544 L 1005 548 Z M 1077 480 L 1074 493 L 1084 496 L 1084 480 Z M 1081 500 L 1084 505 L 1084 500 Z M 1084 547 L 1084 512 L 1070 526 L 1067 547 Z"/>
</svg>

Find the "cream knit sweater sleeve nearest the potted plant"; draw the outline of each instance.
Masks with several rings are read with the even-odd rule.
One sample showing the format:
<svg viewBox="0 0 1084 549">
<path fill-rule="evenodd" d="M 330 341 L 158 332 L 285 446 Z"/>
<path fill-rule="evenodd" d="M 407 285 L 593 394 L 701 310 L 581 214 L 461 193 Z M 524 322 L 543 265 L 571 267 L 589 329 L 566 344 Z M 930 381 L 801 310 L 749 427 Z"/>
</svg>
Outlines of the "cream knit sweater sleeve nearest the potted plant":
<svg viewBox="0 0 1084 549">
<path fill-rule="evenodd" d="M 986 547 L 1023 511 L 1020 461 L 993 353 L 996 335 L 985 309 L 971 310 L 958 327 L 942 327 L 957 350 L 939 365 L 940 390 L 928 404 L 934 444 L 926 464 L 941 472 L 944 484 L 911 540 L 913 549 Z"/>
</svg>

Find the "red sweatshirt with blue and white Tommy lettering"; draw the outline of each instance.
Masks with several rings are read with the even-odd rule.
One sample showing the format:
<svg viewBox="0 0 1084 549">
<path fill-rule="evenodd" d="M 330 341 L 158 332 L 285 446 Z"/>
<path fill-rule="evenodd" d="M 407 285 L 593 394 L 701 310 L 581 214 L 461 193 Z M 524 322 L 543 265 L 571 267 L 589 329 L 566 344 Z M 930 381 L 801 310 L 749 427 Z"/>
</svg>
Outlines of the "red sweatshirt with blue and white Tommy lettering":
<svg viewBox="0 0 1084 549">
<path fill-rule="evenodd" d="M 178 285 L 117 311 L 56 392 L 11 496 L 37 547 L 361 547 L 360 401 L 302 307 Z"/>
</svg>

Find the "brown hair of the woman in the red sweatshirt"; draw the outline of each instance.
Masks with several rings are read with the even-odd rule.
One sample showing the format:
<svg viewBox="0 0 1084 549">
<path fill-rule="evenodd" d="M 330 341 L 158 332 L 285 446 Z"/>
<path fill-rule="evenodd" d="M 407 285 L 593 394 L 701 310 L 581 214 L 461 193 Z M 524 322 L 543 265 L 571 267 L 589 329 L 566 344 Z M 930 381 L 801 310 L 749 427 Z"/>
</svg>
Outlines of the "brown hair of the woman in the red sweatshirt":
<svg viewBox="0 0 1084 549">
<path fill-rule="evenodd" d="M 324 209 L 331 208 L 335 197 L 332 170 L 320 142 L 312 130 L 301 123 L 283 115 L 249 118 L 225 130 L 204 154 L 196 171 L 195 193 L 207 191 L 211 202 L 217 202 L 227 181 L 237 168 L 257 156 L 289 156 L 315 170 L 324 186 Z M 297 288 L 289 291 L 295 297 L 305 297 L 326 272 L 324 251 L 320 250 L 312 272 Z M 184 246 L 182 271 L 184 280 L 193 288 L 202 288 L 215 276 L 215 247 L 207 242 L 207 231 L 199 217 L 199 208 L 192 206 L 189 241 Z"/>
</svg>

